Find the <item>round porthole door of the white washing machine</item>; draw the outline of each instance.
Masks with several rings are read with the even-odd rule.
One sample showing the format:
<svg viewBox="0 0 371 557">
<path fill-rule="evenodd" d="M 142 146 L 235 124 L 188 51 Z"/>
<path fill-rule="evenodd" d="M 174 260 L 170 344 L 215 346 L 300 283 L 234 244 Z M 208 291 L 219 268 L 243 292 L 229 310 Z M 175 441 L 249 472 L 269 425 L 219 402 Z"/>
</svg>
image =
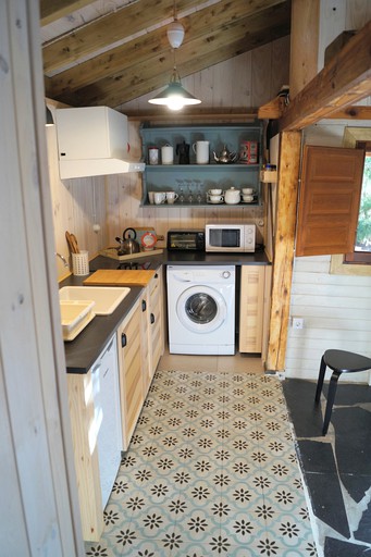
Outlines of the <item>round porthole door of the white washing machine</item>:
<svg viewBox="0 0 371 557">
<path fill-rule="evenodd" d="M 176 314 L 188 331 L 210 333 L 224 323 L 226 304 L 223 296 L 210 286 L 191 286 L 176 302 Z"/>
</svg>

